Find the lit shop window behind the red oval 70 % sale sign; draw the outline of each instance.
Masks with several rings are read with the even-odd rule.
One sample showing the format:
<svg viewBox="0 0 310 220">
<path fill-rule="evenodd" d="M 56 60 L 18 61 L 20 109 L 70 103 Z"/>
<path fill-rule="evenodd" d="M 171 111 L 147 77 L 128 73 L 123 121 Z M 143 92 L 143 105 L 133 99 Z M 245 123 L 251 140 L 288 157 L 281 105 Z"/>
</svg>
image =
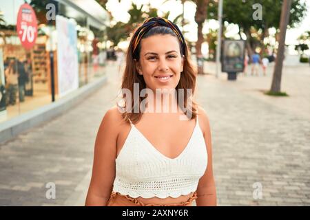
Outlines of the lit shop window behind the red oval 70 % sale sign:
<svg viewBox="0 0 310 220">
<path fill-rule="evenodd" d="M 4 76 L 0 78 L 5 82 L 1 80 L 1 103 L 6 106 L 6 113 L 0 114 L 1 121 L 50 103 L 46 36 L 41 32 L 40 21 L 37 40 L 30 50 L 21 45 L 17 34 L 17 13 L 23 3 L 1 1 L 0 6 L 0 74 Z"/>
</svg>

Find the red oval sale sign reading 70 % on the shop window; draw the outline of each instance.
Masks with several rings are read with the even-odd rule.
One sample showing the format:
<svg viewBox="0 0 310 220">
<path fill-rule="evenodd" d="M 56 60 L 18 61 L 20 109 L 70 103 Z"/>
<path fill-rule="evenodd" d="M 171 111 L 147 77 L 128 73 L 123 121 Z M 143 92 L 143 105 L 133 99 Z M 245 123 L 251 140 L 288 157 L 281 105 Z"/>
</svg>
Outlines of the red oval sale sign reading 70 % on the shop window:
<svg viewBox="0 0 310 220">
<path fill-rule="evenodd" d="M 23 47 L 26 49 L 33 47 L 38 35 L 38 25 L 36 14 L 28 3 L 24 3 L 19 8 L 19 13 L 17 14 L 17 34 Z"/>
</svg>

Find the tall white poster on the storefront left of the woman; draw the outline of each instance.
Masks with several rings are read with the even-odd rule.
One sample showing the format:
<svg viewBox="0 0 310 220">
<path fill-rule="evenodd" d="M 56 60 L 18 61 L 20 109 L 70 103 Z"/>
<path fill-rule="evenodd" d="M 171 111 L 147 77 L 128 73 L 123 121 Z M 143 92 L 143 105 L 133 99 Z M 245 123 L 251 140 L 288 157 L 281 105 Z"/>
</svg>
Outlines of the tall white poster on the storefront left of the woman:
<svg viewBox="0 0 310 220">
<path fill-rule="evenodd" d="M 76 23 L 56 16 L 59 96 L 79 87 Z"/>
</svg>

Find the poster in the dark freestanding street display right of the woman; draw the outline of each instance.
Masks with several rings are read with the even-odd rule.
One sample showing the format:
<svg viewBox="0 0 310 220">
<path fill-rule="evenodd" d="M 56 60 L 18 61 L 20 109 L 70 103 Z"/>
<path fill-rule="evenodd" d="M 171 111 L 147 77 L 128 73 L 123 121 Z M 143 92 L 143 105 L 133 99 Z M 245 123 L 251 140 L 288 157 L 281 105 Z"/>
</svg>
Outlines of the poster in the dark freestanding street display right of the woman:
<svg viewBox="0 0 310 220">
<path fill-rule="evenodd" d="M 222 72 L 242 72 L 245 59 L 245 41 L 223 41 Z"/>
</svg>

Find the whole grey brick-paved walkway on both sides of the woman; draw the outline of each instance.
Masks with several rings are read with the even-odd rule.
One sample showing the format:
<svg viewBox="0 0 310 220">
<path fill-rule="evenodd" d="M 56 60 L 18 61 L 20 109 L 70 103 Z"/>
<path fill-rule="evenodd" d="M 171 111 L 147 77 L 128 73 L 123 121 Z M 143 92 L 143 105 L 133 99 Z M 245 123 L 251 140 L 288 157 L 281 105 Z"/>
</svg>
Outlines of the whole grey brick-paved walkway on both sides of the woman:
<svg viewBox="0 0 310 220">
<path fill-rule="evenodd" d="M 225 74 L 198 77 L 218 205 L 310 205 L 310 74 L 298 68 L 283 74 L 287 98 L 259 91 L 271 85 L 270 68 L 265 78 L 238 76 L 236 82 Z M 111 67 L 108 83 L 68 113 L 0 145 L 0 205 L 83 206 L 96 131 L 120 85 L 116 71 Z M 56 184 L 56 199 L 45 197 L 48 182 Z M 261 199 L 254 193 L 260 186 Z"/>
</svg>

